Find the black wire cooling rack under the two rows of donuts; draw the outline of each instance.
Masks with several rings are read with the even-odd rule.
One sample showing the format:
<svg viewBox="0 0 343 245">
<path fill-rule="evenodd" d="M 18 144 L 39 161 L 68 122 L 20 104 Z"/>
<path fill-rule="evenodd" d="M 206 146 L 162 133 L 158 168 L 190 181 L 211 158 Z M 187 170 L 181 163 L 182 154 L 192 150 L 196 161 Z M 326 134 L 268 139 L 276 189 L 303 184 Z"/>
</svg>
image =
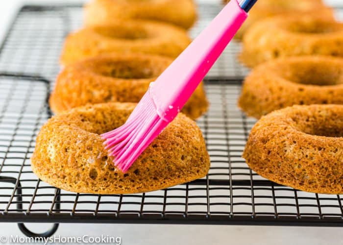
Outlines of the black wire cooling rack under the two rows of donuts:
<svg viewBox="0 0 343 245">
<path fill-rule="evenodd" d="M 65 36 L 81 25 L 80 6 L 23 7 L 0 48 L 0 221 L 18 222 L 29 236 L 49 236 L 63 222 L 343 226 L 343 196 L 281 186 L 245 164 L 241 155 L 255 121 L 236 106 L 247 69 L 237 63 L 234 42 L 205 80 L 211 106 L 197 121 L 211 156 L 205 178 L 135 195 L 71 193 L 40 181 L 30 156 L 51 116 L 49 80 L 59 71 Z M 220 9 L 201 4 L 191 34 Z M 22 222 L 56 224 L 34 234 Z"/>
</svg>

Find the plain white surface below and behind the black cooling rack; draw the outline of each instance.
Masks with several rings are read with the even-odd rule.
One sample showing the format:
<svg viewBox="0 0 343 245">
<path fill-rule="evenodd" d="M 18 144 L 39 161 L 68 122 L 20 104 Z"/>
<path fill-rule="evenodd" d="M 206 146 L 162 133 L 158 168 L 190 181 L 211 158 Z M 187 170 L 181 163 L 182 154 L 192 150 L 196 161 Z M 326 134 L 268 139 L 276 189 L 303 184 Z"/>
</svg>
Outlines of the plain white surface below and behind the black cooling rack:
<svg viewBox="0 0 343 245">
<path fill-rule="evenodd" d="M 333 1 L 343 3 L 343 0 L 331 0 Z M 51 3 L 50 0 L 0 0 L 0 40 L 23 2 Z M 42 232 L 50 225 L 28 224 L 27 226 L 33 231 Z M 123 245 L 343 245 L 342 228 L 327 227 L 60 224 L 56 233 L 61 236 L 84 234 L 120 236 Z M 0 235 L 22 236 L 22 233 L 15 223 L 0 223 Z"/>
</svg>

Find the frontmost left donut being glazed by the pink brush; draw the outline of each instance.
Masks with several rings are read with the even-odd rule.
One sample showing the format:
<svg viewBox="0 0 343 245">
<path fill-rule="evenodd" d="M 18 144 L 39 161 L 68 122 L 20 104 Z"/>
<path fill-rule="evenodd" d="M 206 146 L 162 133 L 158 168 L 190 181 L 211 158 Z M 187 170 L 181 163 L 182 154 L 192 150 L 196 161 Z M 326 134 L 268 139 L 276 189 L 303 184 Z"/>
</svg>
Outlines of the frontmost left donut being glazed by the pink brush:
<svg viewBox="0 0 343 245">
<path fill-rule="evenodd" d="M 103 103 L 52 117 L 37 136 L 33 172 L 71 192 L 129 194 L 203 177 L 210 167 L 196 123 L 179 114 L 125 173 L 107 155 L 100 134 L 125 123 L 136 104 Z"/>
</svg>

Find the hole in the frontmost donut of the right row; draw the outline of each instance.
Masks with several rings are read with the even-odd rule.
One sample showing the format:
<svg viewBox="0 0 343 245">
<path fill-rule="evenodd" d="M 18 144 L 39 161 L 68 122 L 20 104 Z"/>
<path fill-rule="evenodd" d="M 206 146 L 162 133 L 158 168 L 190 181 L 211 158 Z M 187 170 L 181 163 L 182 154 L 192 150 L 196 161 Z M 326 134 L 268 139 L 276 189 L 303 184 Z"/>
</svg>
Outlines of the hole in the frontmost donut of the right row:
<svg viewBox="0 0 343 245">
<path fill-rule="evenodd" d="M 329 109 L 317 109 L 307 113 L 298 112 L 292 116 L 297 130 L 306 134 L 343 137 L 343 110 L 334 112 Z"/>
</svg>

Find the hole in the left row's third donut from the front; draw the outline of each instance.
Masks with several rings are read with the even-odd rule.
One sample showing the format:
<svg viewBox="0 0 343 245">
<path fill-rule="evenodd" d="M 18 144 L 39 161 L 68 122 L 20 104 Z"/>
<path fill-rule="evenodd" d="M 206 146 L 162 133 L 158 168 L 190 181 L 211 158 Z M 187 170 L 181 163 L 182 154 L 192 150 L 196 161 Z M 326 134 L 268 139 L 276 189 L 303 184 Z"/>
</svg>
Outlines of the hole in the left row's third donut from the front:
<svg viewBox="0 0 343 245">
<path fill-rule="evenodd" d="M 95 27 L 94 30 L 101 36 L 112 38 L 112 39 L 123 39 L 123 40 L 139 40 L 147 39 L 150 37 L 149 33 L 145 28 L 135 26 L 115 27 Z"/>
</svg>

